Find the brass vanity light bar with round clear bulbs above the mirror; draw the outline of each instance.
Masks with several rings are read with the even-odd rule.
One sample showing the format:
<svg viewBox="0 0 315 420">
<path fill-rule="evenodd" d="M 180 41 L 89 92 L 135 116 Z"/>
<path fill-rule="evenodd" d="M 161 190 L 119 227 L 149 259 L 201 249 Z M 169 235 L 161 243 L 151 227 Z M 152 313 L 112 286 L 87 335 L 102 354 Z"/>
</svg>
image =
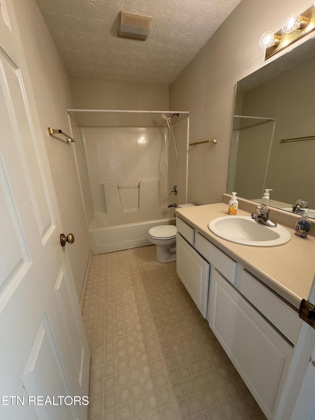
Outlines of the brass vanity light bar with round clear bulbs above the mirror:
<svg viewBox="0 0 315 420">
<path fill-rule="evenodd" d="M 301 14 L 292 12 L 287 15 L 282 29 L 276 33 L 264 32 L 259 39 L 259 47 L 266 49 L 265 60 L 283 48 L 315 29 L 315 2 Z"/>
</svg>

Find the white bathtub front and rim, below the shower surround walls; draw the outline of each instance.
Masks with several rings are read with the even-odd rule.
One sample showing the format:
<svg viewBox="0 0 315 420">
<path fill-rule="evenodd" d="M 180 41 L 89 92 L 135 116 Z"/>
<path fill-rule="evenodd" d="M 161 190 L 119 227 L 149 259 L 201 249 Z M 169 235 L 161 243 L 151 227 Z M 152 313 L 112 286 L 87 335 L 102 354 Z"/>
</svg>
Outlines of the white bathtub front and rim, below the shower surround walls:
<svg viewBox="0 0 315 420">
<path fill-rule="evenodd" d="M 89 235 L 93 254 L 152 245 L 148 239 L 148 230 L 159 225 L 175 225 L 175 218 L 99 228 L 95 228 L 92 223 Z"/>
</svg>

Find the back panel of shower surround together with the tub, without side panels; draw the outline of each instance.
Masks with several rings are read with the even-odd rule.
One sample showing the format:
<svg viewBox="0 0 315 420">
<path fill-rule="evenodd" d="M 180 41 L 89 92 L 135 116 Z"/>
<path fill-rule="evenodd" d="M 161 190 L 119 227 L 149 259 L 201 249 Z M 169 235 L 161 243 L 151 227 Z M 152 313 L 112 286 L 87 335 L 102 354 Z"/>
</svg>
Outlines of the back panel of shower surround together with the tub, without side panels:
<svg viewBox="0 0 315 420">
<path fill-rule="evenodd" d="M 175 224 L 167 208 L 166 129 L 84 127 L 82 133 L 95 209 L 93 253 L 150 245 L 151 227 Z"/>
</svg>

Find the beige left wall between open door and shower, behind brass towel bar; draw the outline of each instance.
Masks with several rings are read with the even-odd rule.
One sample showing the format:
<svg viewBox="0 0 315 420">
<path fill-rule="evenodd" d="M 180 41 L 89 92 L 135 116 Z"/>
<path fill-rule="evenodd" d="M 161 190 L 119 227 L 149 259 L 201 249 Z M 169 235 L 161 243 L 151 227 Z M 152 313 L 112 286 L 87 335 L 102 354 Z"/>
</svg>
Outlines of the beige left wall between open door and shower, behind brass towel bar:
<svg viewBox="0 0 315 420">
<path fill-rule="evenodd" d="M 68 74 L 35 0 L 13 0 L 25 50 L 39 119 L 53 176 L 63 233 L 72 232 L 67 247 L 80 297 L 90 244 L 77 177 L 74 145 L 52 139 L 47 127 L 69 130 L 66 109 L 73 106 Z"/>
</svg>

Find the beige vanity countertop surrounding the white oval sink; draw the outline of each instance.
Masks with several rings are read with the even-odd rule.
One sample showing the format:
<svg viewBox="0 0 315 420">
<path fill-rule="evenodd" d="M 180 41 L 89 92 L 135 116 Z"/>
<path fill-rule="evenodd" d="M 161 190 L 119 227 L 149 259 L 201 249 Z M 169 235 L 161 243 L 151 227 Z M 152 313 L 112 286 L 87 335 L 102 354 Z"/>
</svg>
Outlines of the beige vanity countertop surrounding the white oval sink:
<svg viewBox="0 0 315 420">
<path fill-rule="evenodd" d="M 315 276 L 314 236 L 300 238 L 294 234 L 293 228 L 284 226 L 291 233 L 291 240 L 286 244 L 251 247 L 221 239 L 209 230 L 208 223 L 212 219 L 227 216 L 225 203 L 176 209 L 176 213 L 295 308 L 300 307 L 301 299 L 308 299 Z M 251 215 L 240 208 L 237 214 Z"/>
</svg>

